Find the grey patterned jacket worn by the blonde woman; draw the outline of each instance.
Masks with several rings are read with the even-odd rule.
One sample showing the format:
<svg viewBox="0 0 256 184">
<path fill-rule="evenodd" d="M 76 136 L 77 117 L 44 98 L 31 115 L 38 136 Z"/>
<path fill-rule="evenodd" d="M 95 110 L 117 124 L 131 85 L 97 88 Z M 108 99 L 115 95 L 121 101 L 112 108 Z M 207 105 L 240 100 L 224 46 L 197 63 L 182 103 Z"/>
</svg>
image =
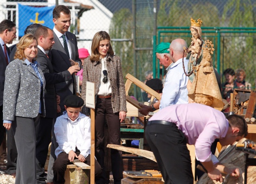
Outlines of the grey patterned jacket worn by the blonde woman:
<svg viewBox="0 0 256 184">
<path fill-rule="evenodd" d="M 43 72 L 39 67 L 38 70 L 43 77 Z M 15 116 L 37 117 L 40 98 L 42 116 L 45 116 L 44 88 L 46 82 L 44 77 L 41 94 L 40 79 L 32 66 L 27 65 L 23 60 L 16 59 L 7 66 L 5 78 L 3 120 L 13 121 Z"/>
</svg>

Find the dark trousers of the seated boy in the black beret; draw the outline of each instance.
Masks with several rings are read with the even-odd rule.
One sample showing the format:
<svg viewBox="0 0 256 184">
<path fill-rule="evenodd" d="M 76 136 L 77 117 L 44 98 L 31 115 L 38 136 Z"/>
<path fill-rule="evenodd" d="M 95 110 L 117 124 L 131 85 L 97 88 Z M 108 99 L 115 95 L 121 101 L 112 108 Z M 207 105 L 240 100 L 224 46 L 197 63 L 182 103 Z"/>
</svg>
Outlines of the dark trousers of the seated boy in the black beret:
<svg viewBox="0 0 256 184">
<path fill-rule="evenodd" d="M 86 159 L 85 163 L 87 165 L 91 165 L 91 155 L 89 154 L 85 159 Z M 69 162 L 68 154 L 65 152 L 60 153 L 53 164 L 54 184 L 64 184 L 65 183 L 64 175 L 65 175 L 65 170 L 66 170 L 68 164 L 72 164 L 71 162 Z M 96 184 L 102 184 L 102 183 L 97 182 L 101 173 L 102 173 L 102 169 L 100 167 L 100 164 L 95 159 L 95 182 L 96 182 Z"/>
</svg>

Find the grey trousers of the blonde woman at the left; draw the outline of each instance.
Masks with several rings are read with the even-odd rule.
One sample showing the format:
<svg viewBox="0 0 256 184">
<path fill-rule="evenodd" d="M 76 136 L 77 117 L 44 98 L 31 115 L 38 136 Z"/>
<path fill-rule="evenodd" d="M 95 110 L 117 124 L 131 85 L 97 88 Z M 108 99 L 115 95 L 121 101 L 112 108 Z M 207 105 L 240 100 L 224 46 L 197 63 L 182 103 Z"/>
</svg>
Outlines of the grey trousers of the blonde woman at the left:
<svg viewBox="0 0 256 184">
<path fill-rule="evenodd" d="M 12 122 L 13 134 L 18 152 L 15 184 L 35 184 L 36 180 L 36 127 L 40 115 L 36 118 L 16 116 Z"/>
</svg>

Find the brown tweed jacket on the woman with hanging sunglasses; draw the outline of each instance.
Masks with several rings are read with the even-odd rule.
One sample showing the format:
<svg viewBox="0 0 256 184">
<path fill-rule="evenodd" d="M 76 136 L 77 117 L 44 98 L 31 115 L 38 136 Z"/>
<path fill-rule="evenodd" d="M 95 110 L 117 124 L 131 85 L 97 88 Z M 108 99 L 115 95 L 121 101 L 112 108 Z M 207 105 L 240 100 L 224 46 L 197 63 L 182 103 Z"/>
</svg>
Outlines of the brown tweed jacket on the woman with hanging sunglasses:
<svg viewBox="0 0 256 184">
<path fill-rule="evenodd" d="M 83 66 L 83 79 L 82 79 L 82 99 L 86 103 L 86 81 L 95 83 L 95 103 L 100 84 L 100 73 L 102 64 L 100 61 L 91 61 L 90 57 L 86 58 Z M 106 69 L 108 71 L 108 79 L 111 86 L 112 97 L 111 104 L 113 112 L 125 111 L 126 109 L 126 94 L 124 88 L 124 79 L 121 68 L 121 61 L 118 56 L 108 55 L 106 59 Z M 89 108 L 82 107 L 82 113 L 89 115 Z"/>
</svg>

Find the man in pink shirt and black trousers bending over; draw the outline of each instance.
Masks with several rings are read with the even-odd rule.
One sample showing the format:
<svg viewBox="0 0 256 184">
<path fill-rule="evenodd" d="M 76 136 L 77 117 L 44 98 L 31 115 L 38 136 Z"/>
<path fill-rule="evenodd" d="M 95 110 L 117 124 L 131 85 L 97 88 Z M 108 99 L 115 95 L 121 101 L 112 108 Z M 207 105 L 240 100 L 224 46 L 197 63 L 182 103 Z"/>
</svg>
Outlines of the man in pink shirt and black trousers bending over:
<svg viewBox="0 0 256 184">
<path fill-rule="evenodd" d="M 196 158 L 212 180 L 223 182 L 221 172 L 239 177 L 239 169 L 221 165 L 210 146 L 215 139 L 224 146 L 246 135 L 247 124 L 241 116 L 226 118 L 221 111 L 197 103 L 165 107 L 150 118 L 145 129 L 165 184 L 193 184 L 187 143 L 195 145 Z"/>
</svg>

